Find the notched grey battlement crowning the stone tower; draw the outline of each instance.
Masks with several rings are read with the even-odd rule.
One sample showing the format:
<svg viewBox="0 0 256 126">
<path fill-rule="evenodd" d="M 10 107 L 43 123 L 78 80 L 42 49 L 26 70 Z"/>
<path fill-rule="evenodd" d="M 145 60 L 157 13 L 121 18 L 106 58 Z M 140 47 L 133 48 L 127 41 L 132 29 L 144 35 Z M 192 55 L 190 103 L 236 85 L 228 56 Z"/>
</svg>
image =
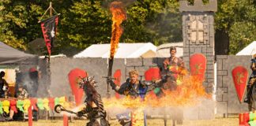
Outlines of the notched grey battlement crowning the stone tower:
<svg viewBox="0 0 256 126">
<path fill-rule="evenodd" d="M 202 0 L 194 0 L 194 6 L 190 6 L 186 0 L 179 1 L 179 11 L 180 12 L 216 12 L 217 10 L 217 0 L 209 0 L 209 3 L 204 4 Z"/>
</svg>

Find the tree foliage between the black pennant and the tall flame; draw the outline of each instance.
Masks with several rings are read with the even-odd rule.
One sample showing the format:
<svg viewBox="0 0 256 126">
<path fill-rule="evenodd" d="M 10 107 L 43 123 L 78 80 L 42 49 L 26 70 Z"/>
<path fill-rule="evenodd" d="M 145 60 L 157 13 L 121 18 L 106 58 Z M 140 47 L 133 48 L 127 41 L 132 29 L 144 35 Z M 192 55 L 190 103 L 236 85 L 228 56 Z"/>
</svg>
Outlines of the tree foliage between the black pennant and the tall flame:
<svg viewBox="0 0 256 126">
<path fill-rule="evenodd" d="M 81 0 L 74 2 L 63 13 L 62 42 L 78 49 L 96 43 L 109 43 L 111 37 L 111 15 L 100 1 Z"/>
</svg>

